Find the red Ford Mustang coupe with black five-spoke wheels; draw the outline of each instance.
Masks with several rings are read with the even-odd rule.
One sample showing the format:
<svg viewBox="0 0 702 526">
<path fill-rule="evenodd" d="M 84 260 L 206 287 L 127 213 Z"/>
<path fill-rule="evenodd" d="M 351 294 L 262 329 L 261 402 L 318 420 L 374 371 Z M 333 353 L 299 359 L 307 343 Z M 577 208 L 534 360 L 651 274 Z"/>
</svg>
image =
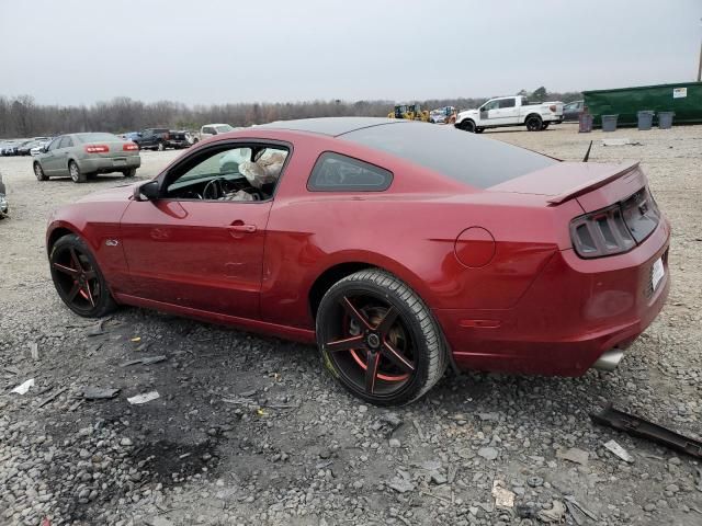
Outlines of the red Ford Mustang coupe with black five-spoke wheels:
<svg viewBox="0 0 702 526">
<path fill-rule="evenodd" d="M 218 135 L 56 211 L 46 241 L 78 315 L 125 304 L 316 341 L 346 388 L 396 404 L 449 364 L 613 368 L 665 302 L 669 235 L 635 163 L 348 117 Z"/>
</svg>

